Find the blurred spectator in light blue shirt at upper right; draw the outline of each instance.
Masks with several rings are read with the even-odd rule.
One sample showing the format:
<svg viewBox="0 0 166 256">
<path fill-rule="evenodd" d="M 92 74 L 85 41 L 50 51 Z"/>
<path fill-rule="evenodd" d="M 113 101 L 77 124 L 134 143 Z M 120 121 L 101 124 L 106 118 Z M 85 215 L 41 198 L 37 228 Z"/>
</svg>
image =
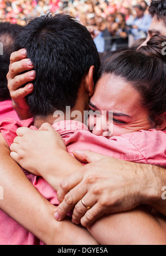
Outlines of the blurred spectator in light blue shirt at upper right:
<svg viewBox="0 0 166 256">
<path fill-rule="evenodd" d="M 134 41 L 147 36 L 148 28 L 151 25 L 152 18 L 148 14 L 144 14 L 144 8 L 141 5 L 134 6 L 136 11 L 136 18 L 132 23 L 132 34 L 134 36 Z"/>
</svg>

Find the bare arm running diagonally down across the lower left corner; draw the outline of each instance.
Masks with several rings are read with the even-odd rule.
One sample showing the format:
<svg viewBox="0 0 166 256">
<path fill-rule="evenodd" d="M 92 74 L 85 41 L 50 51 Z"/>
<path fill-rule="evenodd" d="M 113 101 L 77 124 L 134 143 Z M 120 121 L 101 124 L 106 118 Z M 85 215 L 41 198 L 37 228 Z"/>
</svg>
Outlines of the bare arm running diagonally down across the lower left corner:
<svg viewBox="0 0 166 256">
<path fill-rule="evenodd" d="M 97 244 L 86 229 L 70 220 L 55 221 L 54 205 L 33 187 L 9 154 L 0 133 L 0 185 L 3 188 L 0 208 L 45 244 Z"/>
</svg>

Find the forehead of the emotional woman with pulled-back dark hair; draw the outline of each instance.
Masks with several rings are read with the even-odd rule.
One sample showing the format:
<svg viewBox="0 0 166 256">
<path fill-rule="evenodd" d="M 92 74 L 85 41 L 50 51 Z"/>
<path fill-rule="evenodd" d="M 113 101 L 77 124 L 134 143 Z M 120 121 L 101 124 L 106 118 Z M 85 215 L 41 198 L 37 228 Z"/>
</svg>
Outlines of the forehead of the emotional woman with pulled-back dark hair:
<svg viewBox="0 0 166 256">
<path fill-rule="evenodd" d="M 141 106 L 141 96 L 130 83 L 112 74 L 104 74 L 95 86 L 91 102 L 100 111 L 127 111 Z"/>
</svg>

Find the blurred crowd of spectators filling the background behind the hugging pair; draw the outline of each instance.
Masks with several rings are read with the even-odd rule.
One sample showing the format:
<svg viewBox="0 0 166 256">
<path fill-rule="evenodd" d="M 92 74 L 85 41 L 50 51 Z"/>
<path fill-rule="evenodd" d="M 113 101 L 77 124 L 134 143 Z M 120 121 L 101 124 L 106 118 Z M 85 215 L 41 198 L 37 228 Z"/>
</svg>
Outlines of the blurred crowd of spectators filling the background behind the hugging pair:
<svg viewBox="0 0 166 256">
<path fill-rule="evenodd" d="M 89 29 L 98 52 L 139 45 L 151 24 L 150 0 L 0 0 L 0 21 L 22 26 L 42 14 L 67 13 Z"/>
</svg>

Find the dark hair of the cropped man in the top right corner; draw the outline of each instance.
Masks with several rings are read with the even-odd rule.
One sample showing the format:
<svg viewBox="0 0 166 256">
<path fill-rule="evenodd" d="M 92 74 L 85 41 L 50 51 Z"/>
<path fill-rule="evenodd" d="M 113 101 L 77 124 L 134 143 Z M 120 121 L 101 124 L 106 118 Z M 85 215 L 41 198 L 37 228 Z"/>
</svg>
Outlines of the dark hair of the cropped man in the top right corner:
<svg viewBox="0 0 166 256">
<path fill-rule="evenodd" d="M 156 16 L 158 20 L 164 21 L 166 26 L 166 0 L 155 1 L 152 0 L 149 6 L 149 13 L 152 17 Z"/>
</svg>

